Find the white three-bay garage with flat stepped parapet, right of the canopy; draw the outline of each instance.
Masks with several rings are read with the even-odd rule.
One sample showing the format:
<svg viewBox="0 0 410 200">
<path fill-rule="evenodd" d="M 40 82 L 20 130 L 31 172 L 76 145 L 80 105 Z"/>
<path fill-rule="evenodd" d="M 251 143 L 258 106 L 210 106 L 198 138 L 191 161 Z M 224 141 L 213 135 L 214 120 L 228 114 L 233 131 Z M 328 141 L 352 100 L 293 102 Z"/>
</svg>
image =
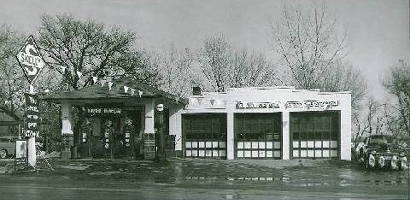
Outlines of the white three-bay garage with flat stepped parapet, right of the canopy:
<svg viewBox="0 0 410 200">
<path fill-rule="evenodd" d="M 170 116 L 170 134 L 185 157 L 350 160 L 351 95 L 293 87 L 193 95 Z"/>
</svg>

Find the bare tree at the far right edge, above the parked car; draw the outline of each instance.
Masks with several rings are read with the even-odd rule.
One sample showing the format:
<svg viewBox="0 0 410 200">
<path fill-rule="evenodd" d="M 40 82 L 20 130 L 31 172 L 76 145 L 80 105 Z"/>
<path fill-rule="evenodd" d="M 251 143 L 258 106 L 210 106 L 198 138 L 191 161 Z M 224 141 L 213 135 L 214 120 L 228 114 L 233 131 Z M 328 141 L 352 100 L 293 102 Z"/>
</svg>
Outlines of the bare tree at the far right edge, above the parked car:
<svg viewBox="0 0 410 200">
<path fill-rule="evenodd" d="M 394 95 L 397 120 L 400 125 L 397 132 L 410 137 L 410 66 L 408 62 L 399 60 L 389 70 L 384 86 Z"/>
</svg>

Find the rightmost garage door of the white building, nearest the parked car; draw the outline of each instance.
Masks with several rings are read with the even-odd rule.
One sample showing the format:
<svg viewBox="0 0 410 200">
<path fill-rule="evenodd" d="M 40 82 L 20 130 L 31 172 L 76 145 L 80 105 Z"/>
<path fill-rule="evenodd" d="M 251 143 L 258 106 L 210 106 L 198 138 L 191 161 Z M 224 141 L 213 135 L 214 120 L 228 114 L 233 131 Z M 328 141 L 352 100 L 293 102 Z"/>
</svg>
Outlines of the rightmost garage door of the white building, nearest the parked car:
<svg viewBox="0 0 410 200">
<path fill-rule="evenodd" d="M 340 112 L 290 114 L 293 158 L 338 158 Z"/>
</svg>

